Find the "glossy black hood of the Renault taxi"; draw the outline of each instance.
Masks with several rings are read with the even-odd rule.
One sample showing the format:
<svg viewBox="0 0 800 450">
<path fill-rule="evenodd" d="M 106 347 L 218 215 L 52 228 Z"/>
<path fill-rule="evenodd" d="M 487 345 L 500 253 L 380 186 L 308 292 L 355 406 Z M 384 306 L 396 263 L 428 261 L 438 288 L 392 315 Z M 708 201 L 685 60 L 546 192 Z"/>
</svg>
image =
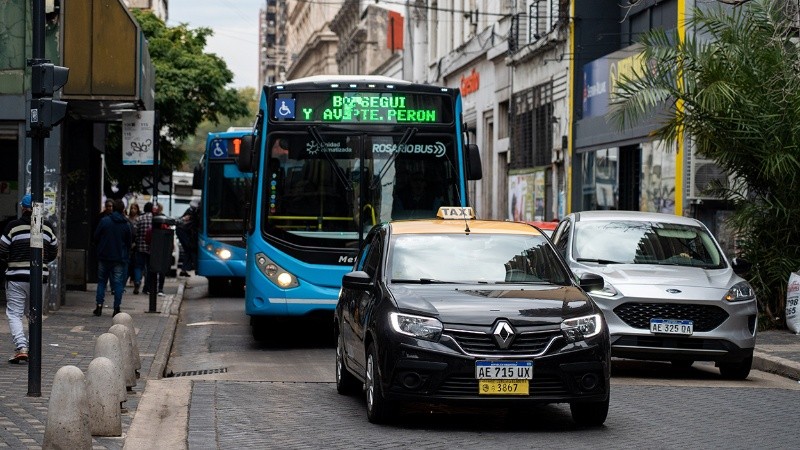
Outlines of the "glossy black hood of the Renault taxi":
<svg viewBox="0 0 800 450">
<path fill-rule="evenodd" d="M 574 286 L 395 285 L 399 310 L 439 318 L 445 324 L 559 324 L 564 318 L 594 314 L 596 307 Z"/>
</svg>

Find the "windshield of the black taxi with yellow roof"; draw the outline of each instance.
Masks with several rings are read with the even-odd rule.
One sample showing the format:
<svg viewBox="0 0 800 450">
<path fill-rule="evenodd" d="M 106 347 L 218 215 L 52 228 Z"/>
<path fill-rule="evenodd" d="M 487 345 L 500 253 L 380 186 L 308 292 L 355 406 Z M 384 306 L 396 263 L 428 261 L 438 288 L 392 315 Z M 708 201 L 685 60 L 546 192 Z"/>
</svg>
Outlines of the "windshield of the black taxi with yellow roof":
<svg viewBox="0 0 800 450">
<path fill-rule="evenodd" d="M 392 283 L 571 283 L 541 235 L 400 234 L 389 273 Z"/>
</svg>

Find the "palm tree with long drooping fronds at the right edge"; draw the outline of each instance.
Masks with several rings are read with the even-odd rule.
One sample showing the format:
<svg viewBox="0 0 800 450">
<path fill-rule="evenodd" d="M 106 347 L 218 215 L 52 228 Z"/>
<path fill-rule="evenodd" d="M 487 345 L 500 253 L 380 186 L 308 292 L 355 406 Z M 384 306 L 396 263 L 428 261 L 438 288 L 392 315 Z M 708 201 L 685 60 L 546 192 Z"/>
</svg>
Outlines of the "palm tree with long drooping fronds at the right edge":
<svg viewBox="0 0 800 450">
<path fill-rule="evenodd" d="M 717 5 L 694 10 L 687 28 L 695 37 L 646 33 L 646 70 L 617 83 L 609 113 L 620 129 L 660 115 L 655 135 L 675 141 L 685 132 L 700 155 L 736 174 L 713 193 L 733 206 L 729 223 L 753 263 L 762 326 L 784 324 L 787 281 L 800 269 L 800 51 L 791 7 Z"/>
</svg>

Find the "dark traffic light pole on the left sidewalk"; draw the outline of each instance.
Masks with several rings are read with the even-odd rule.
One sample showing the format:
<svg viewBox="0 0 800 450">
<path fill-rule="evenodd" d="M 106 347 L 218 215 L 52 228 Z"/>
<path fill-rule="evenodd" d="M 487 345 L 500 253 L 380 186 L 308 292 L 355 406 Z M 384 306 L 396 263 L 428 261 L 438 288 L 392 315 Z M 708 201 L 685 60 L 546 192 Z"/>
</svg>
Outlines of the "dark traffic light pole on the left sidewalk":
<svg viewBox="0 0 800 450">
<path fill-rule="evenodd" d="M 44 140 L 66 116 L 67 104 L 53 100 L 56 90 L 67 82 L 68 69 L 54 66 L 44 58 L 45 0 L 33 0 L 33 58 L 28 136 L 31 138 L 31 268 L 28 308 L 28 396 L 42 396 L 42 251 L 44 236 Z"/>
</svg>

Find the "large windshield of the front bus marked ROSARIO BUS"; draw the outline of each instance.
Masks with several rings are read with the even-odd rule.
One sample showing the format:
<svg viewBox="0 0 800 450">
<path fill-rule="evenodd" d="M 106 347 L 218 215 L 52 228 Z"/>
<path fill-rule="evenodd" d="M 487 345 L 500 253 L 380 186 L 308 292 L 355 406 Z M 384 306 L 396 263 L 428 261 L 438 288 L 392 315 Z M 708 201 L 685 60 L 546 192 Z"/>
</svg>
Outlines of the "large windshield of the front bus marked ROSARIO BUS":
<svg viewBox="0 0 800 450">
<path fill-rule="evenodd" d="M 460 204 L 452 134 L 312 129 L 268 145 L 262 231 L 294 245 L 354 249 L 372 225 Z"/>
</svg>

